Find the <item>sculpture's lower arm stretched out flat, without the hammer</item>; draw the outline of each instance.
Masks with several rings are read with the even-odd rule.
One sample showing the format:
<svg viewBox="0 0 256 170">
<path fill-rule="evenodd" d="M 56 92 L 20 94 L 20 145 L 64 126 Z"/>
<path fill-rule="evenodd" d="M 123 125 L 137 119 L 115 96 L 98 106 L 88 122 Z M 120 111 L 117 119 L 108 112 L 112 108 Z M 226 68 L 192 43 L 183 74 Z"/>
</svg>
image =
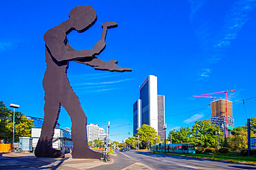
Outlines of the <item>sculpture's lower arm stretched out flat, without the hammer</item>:
<svg viewBox="0 0 256 170">
<path fill-rule="evenodd" d="M 94 67 L 95 70 L 104 70 L 104 71 L 110 71 L 110 72 L 131 72 L 131 69 L 129 68 L 122 68 L 116 65 L 118 61 L 101 61 L 98 58 L 94 58 L 92 61 L 86 61 L 86 62 L 79 62 L 78 63 L 84 63 L 85 65 L 89 65 L 91 67 Z"/>
</svg>

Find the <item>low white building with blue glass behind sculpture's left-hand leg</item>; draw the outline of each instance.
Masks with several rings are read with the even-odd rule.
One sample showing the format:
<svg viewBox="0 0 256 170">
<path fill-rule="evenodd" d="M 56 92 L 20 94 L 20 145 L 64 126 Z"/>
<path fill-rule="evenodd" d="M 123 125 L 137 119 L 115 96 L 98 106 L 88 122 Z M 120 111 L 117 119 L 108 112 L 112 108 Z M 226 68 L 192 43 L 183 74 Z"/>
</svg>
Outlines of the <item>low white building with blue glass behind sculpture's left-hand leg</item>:
<svg viewBox="0 0 256 170">
<path fill-rule="evenodd" d="M 37 142 L 41 135 L 41 128 L 33 127 L 31 129 L 31 138 L 32 140 L 32 147 L 35 150 L 37 146 Z M 64 129 L 55 129 L 54 136 L 53 136 L 53 148 L 62 150 L 64 152 L 69 151 L 69 149 L 73 148 L 73 141 L 71 139 L 71 132 L 66 131 Z"/>
</svg>

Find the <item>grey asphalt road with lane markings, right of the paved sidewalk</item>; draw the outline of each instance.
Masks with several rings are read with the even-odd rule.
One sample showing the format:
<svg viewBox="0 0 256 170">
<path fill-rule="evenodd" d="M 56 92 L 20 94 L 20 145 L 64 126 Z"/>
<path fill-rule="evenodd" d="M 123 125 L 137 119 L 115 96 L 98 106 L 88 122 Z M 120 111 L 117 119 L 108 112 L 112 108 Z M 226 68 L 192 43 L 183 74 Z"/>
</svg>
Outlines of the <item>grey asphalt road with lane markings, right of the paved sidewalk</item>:
<svg viewBox="0 0 256 170">
<path fill-rule="evenodd" d="M 256 166 L 253 165 L 233 164 L 142 151 L 116 151 L 116 155 L 117 157 L 122 155 L 128 158 L 122 160 L 122 162 L 134 160 L 135 162 L 145 164 L 150 169 L 256 169 Z"/>
</svg>

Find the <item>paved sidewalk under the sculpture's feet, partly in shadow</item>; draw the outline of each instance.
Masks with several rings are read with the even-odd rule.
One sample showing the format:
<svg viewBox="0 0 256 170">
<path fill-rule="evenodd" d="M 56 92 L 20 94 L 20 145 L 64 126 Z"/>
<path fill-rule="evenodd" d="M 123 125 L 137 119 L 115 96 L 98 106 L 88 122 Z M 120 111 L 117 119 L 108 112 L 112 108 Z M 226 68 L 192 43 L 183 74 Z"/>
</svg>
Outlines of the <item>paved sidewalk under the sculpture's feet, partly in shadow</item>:
<svg viewBox="0 0 256 170">
<path fill-rule="evenodd" d="M 0 153 L 0 169 L 91 169 L 113 164 L 95 159 L 73 159 L 70 153 L 65 158 L 37 158 L 34 153 Z"/>
</svg>

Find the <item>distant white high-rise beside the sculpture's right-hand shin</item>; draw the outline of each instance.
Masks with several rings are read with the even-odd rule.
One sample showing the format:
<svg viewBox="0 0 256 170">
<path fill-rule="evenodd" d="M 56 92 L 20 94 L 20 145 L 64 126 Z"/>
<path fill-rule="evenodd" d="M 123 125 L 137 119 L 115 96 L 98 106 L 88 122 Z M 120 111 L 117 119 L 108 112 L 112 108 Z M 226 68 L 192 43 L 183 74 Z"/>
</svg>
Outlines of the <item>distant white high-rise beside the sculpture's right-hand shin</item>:
<svg viewBox="0 0 256 170">
<path fill-rule="evenodd" d="M 99 127 L 99 125 L 95 125 L 90 123 L 86 126 L 87 129 L 87 140 L 88 142 L 93 140 L 104 140 L 106 134 L 104 133 L 104 129 Z"/>
</svg>

